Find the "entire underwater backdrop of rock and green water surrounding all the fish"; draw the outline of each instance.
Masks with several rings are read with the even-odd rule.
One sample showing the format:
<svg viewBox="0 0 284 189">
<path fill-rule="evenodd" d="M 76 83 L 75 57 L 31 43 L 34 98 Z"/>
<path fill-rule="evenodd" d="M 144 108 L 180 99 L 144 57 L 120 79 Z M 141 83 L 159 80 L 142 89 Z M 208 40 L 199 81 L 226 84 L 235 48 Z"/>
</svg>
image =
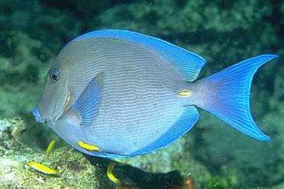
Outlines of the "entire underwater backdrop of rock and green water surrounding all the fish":
<svg viewBox="0 0 284 189">
<path fill-rule="evenodd" d="M 30 113 L 60 49 L 95 29 L 129 29 L 196 52 L 206 59 L 199 78 L 249 57 L 280 55 L 257 71 L 251 94 L 252 115 L 271 141 L 201 111 L 172 146 L 120 160 L 116 186 L 106 176 L 111 160 L 73 150 Z M 283 1 L 0 0 L 0 188 L 284 188 L 283 41 Z M 24 166 L 32 160 L 60 176 Z"/>
</svg>

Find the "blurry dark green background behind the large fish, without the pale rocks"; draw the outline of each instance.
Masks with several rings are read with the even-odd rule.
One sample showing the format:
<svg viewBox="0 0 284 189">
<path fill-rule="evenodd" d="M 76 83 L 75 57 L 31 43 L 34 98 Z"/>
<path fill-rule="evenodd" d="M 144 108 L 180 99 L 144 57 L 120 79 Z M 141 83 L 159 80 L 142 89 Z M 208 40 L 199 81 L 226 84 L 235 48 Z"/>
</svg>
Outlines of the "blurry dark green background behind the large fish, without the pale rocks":
<svg viewBox="0 0 284 189">
<path fill-rule="evenodd" d="M 196 52 L 207 61 L 201 77 L 248 57 L 280 55 L 252 85 L 252 114 L 271 141 L 250 139 L 205 111 L 185 139 L 212 175 L 203 186 L 284 188 L 283 1 L 0 0 L 0 117 L 32 124 L 29 111 L 50 62 L 72 38 L 95 29 L 130 29 Z"/>
</svg>

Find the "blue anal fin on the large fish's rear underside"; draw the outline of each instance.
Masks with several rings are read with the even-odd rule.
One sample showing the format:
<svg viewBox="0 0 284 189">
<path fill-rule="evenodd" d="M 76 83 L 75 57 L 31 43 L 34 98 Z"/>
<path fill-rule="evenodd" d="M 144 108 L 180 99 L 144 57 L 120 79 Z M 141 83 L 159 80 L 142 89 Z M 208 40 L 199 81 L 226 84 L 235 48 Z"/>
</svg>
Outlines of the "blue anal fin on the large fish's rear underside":
<svg viewBox="0 0 284 189">
<path fill-rule="evenodd" d="M 197 122 L 199 118 L 199 113 L 194 106 L 187 106 L 180 119 L 161 137 L 159 137 L 156 141 L 152 142 L 148 146 L 143 147 L 139 151 L 135 151 L 131 155 L 142 155 L 145 153 L 149 153 L 151 151 L 156 151 L 158 148 L 163 148 L 171 143 L 173 143 L 178 138 L 182 137 L 182 135 L 186 134 L 191 130 L 194 124 Z"/>
</svg>

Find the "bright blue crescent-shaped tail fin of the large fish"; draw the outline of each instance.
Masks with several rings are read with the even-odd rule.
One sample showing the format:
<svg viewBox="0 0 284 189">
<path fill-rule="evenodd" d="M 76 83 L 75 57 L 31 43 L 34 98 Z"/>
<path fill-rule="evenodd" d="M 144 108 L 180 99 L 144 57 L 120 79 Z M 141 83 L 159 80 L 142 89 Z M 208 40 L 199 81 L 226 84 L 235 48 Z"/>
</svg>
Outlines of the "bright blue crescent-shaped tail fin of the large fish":
<svg viewBox="0 0 284 189">
<path fill-rule="evenodd" d="M 250 114 L 250 85 L 255 71 L 277 55 L 246 59 L 198 81 L 203 98 L 196 105 L 214 114 L 236 130 L 259 140 L 269 140 Z"/>
</svg>

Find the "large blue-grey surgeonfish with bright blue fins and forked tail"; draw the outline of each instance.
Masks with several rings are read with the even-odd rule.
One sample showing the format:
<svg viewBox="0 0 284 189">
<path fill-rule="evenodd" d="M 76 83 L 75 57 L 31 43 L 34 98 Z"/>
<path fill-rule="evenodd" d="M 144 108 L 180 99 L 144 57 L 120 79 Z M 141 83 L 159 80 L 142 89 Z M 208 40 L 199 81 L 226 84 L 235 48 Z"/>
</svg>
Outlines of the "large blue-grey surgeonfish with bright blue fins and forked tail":
<svg viewBox="0 0 284 189">
<path fill-rule="evenodd" d="M 196 81 L 205 59 L 194 52 L 133 31 L 93 31 L 59 52 L 33 114 L 77 150 L 105 158 L 173 143 L 197 122 L 196 107 L 266 141 L 250 114 L 250 85 L 276 57 L 252 57 Z"/>
</svg>

